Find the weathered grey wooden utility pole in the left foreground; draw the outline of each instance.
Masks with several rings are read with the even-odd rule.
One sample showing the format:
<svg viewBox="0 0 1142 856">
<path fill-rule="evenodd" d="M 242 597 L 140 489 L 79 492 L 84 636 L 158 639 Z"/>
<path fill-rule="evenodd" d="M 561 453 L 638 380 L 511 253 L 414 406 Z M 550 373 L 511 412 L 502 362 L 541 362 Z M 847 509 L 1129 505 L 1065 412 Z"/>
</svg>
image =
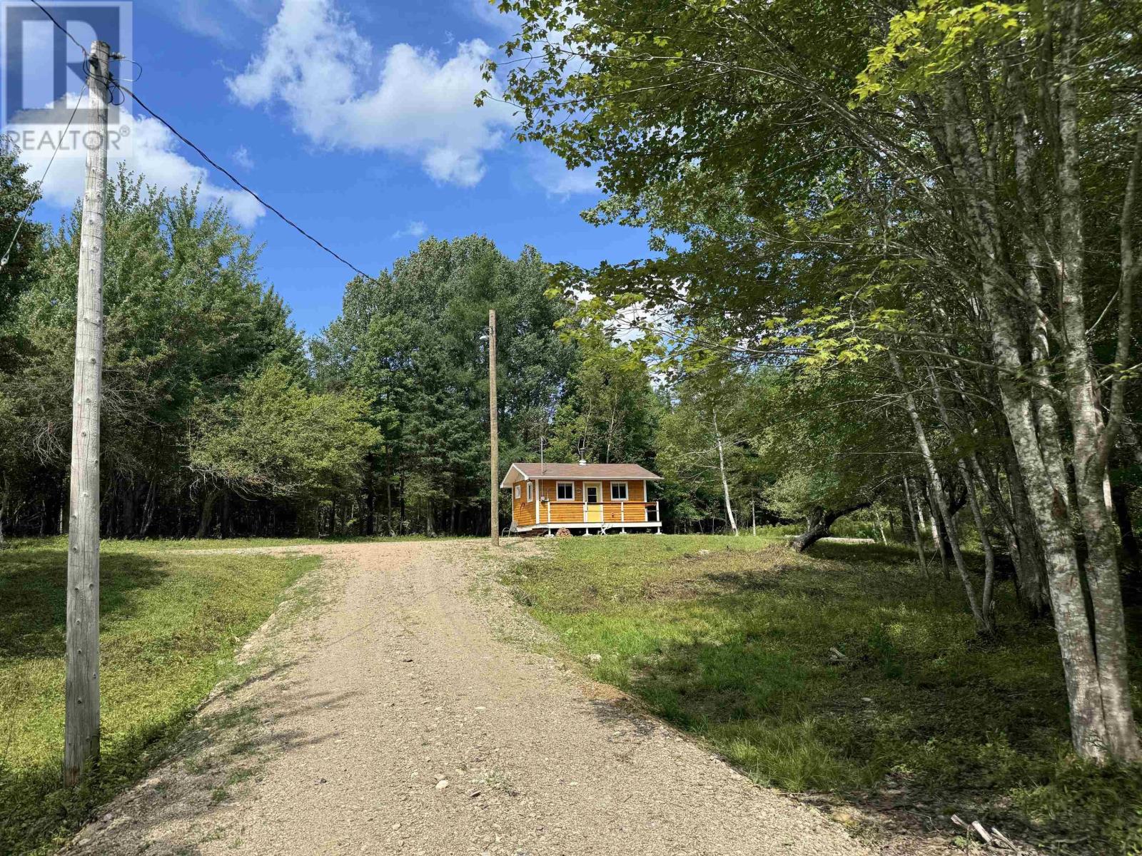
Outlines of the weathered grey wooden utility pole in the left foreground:
<svg viewBox="0 0 1142 856">
<path fill-rule="evenodd" d="M 71 523 L 67 530 L 67 677 L 64 784 L 99 758 L 99 404 L 103 375 L 103 213 L 107 183 L 107 82 L 111 48 L 91 43 L 83 135 L 87 177 L 75 299 Z"/>
</svg>

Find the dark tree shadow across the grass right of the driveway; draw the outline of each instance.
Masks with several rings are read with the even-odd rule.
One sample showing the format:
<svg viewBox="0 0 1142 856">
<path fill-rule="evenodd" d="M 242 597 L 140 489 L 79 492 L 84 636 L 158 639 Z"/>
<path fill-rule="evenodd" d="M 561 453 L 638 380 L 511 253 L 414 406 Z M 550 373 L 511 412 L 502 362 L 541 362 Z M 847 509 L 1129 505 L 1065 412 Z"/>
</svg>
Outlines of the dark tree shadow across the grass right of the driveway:
<svg viewBox="0 0 1142 856">
<path fill-rule="evenodd" d="M 1073 757 L 1061 676 L 1042 688 L 940 678 L 875 632 L 839 663 L 777 640 L 664 644 L 627 688 L 758 784 L 853 807 L 882 829 L 954 835 L 958 813 L 1060 854 L 1142 853 L 1142 766 Z"/>
</svg>

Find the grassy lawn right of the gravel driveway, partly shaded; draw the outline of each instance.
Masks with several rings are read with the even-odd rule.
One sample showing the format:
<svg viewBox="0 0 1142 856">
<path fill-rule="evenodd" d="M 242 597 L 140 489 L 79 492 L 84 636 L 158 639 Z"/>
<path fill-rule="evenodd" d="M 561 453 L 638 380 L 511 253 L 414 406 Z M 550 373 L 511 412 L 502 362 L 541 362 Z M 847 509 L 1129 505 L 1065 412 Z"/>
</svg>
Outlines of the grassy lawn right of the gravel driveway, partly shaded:
<svg viewBox="0 0 1142 856">
<path fill-rule="evenodd" d="M 1060 853 L 1142 853 L 1142 769 L 1073 758 L 1053 630 L 1020 617 L 1010 582 L 994 640 L 958 582 L 876 544 L 561 539 L 505 582 L 597 679 L 759 783 L 948 831 L 955 811 Z"/>
</svg>

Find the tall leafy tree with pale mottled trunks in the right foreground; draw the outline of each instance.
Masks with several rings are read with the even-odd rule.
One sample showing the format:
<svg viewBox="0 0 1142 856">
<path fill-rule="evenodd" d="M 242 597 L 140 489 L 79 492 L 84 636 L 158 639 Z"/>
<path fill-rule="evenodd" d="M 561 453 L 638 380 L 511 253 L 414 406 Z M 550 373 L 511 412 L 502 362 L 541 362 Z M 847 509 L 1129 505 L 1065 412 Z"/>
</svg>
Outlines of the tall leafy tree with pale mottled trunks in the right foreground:
<svg viewBox="0 0 1142 856">
<path fill-rule="evenodd" d="M 1038 554 L 1046 571 L 1075 746 L 1140 757 L 1104 501 L 1128 426 L 1142 269 L 1142 102 L 1127 82 L 1142 48 L 1124 38 L 1139 31 L 1137 10 L 1092 0 L 924 0 L 894 17 L 831 2 L 685 2 L 669 16 L 613 0 L 501 8 L 523 22 L 505 46 L 520 136 L 569 165 L 597 164 L 610 197 L 594 219 L 650 226 L 661 253 L 568 269 L 564 283 L 666 307 L 678 328 L 710 325 L 740 360 L 859 371 L 891 352 L 902 371 L 872 383 L 896 406 L 903 396 L 922 458 L 935 457 L 923 450 L 933 414 L 922 407 L 938 414 L 939 390 L 955 420 L 956 398 L 956 412 L 989 426 L 982 449 L 994 457 L 974 453 L 976 474 L 952 454 L 951 479 L 925 461 L 943 530 L 955 538 L 942 508 L 952 487 L 971 498 L 973 476 L 997 485 L 988 474 L 1006 469 L 1013 515 L 1029 512 L 1011 526 L 1021 573 L 1034 580 Z M 908 406 L 916 378 L 933 394 L 912 390 Z"/>
</svg>

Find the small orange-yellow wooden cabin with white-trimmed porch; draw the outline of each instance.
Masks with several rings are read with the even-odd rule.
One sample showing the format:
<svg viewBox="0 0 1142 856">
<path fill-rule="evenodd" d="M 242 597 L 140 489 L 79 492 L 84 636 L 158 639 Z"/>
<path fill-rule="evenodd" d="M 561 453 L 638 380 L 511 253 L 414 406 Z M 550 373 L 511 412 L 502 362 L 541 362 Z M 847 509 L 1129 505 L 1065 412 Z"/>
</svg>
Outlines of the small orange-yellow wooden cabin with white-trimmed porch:
<svg viewBox="0 0 1142 856">
<path fill-rule="evenodd" d="M 513 463 L 500 487 L 512 491 L 512 532 L 660 532 L 648 486 L 661 478 L 637 463 Z"/>
</svg>

